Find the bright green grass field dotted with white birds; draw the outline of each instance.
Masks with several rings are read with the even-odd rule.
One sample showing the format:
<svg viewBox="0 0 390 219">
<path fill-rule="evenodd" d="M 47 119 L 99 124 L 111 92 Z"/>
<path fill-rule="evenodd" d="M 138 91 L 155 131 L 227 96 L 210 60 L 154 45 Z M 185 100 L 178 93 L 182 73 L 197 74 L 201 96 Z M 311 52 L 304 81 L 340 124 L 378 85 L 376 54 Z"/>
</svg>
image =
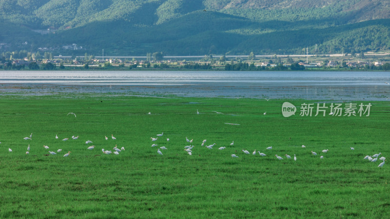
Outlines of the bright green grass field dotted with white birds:
<svg viewBox="0 0 390 219">
<path fill-rule="evenodd" d="M 0 218 L 388 218 L 390 165 L 363 158 L 390 156 L 389 103 L 371 102 L 369 117 L 284 118 L 284 101 L 317 102 L 1 96 Z M 125 151 L 102 153 L 115 145 Z"/>
</svg>

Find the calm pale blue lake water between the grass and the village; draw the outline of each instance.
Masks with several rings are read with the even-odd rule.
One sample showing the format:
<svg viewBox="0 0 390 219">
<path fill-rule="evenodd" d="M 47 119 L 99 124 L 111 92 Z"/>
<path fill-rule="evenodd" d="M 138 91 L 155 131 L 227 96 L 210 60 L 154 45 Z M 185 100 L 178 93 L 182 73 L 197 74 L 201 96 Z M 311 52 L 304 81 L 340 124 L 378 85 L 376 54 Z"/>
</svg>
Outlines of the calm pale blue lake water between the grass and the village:
<svg viewBox="0 0 390 219">
<path fill-rule="evenodd" d="M 1 71 L 0 92 L 389 100 L 389 72 Z"/>
</svg>

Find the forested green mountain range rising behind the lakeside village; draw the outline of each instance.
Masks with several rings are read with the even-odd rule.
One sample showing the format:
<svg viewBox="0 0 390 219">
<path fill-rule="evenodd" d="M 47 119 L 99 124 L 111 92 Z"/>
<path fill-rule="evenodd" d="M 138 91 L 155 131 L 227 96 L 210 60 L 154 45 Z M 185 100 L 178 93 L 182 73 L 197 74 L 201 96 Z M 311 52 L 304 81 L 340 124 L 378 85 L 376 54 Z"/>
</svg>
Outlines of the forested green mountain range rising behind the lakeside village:
<svg viewBox="0 0 390 219">
<path fill-rule="evenodd" d="M 390 49 L 390 0 L 0 0 L 0 28 L 0 51 L 359 53 Z"/>
</svg>

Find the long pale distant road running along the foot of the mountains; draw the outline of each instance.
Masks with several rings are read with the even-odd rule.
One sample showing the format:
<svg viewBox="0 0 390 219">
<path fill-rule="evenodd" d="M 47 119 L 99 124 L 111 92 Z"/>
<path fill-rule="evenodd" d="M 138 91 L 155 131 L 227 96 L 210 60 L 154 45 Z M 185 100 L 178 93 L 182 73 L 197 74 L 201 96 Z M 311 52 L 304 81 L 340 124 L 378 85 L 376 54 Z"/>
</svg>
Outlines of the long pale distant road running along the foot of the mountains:
<svg viewBox="0 0 390 219">
<path fill-rule="evenodd" d="M 389 55 L 389 53 L 385 53 L 385 54 L 375 54 L 375 53 L 366 53 L 364 54 L 365 56 L 387 56 Z M 215 58 L 219 58 L 221 57 L 222 55 L 213 55 L 213 57 Z M 270 54 L 270 55 L 255 55 L 256 57 L 273 57 L 274 54 Z M 276 57 L 306 57 L 306 55 L 276 55 Z M 314 55 L 314 54 L 309 54 L 308 55 L 309 57 L 314 57 L 314 56 L 317 56 L 317 55 Z M 326 55 L 319 55 L 319 56 L 330 56 L 330 57 L 342 57 L 342 56 L 345 56 L 345 54 L 326 54 Z M 164 56 L 164 59 L 202 59 L 204 58 L 205 56 Z M 248 55 L 244 55 L 244 56 L 225 56 L 226 58 L 247 58 Z M 55 56 L 54 57 L 55 59 L 70 59 L 71 56 Z M 84 58 L 84 56 L 77 56 L 77 58 Z M 96 59 L 102 59 L 103 57 L 102 56 L 95 56 Z M 146 56 L 104 56 L 104 58 L 106 59 L 146 59 Z"/>
</svg>

